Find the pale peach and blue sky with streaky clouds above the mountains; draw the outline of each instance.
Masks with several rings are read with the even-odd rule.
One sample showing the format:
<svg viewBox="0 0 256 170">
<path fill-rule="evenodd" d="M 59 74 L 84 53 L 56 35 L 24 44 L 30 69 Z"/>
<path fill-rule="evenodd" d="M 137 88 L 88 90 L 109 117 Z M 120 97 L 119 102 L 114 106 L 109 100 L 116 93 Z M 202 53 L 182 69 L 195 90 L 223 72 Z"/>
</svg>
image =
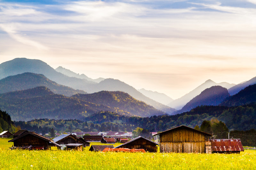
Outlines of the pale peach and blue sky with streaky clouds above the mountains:
<svg viewBox="0 0 256 170">
<path fill-rule="evenodd" d="M 39 59 L 177 99 L 256 76 L 256 0 L 0 0 L 0 63 Z"/>
</svg>

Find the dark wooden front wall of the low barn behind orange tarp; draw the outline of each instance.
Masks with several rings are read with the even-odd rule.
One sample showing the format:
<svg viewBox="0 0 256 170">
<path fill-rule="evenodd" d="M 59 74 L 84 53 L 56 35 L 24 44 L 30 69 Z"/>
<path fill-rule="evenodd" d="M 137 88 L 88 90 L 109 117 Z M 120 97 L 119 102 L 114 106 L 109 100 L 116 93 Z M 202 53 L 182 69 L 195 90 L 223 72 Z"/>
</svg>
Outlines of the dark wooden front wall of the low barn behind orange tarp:
<svg viewBox="0 0 256 170">
<path fill-rule="evenodd" d="M 122 145 L 122 148 L 128 149 L 144 149 L 146 152 L 156 152 L 156 144 L 149 142 L 143 138 L 137 139 L 131 143 Z"/>
</svg>

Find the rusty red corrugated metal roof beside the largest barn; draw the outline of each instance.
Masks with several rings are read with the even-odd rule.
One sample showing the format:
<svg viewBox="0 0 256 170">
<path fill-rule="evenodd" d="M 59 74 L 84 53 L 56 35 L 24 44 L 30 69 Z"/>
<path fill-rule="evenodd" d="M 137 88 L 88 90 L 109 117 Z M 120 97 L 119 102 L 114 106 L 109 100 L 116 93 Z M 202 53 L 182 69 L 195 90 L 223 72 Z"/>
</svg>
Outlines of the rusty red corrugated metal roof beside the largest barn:
<svg viewBox="0 0 256 170">
<path fill-rule="evenodd" d="M 212 144 L 212 152 L 244 151 L 240 139 L 209 139 Z"/>
</svg>

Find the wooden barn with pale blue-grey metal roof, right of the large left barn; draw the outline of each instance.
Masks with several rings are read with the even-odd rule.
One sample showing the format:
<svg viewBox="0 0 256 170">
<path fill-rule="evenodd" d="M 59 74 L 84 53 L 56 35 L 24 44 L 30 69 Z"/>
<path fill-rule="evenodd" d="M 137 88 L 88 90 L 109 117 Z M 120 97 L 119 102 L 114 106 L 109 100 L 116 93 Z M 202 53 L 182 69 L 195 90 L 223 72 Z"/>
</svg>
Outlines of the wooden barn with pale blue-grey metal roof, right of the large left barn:
<svg viewBox="0 0 256 170">
<path fill-rule="evenodd" d="M 55 137 L 54 139 L 52 139 L 55 143 L 62 145 L 63 147 L 65 147 L 64 145 L 67 144 L 82 144 L 84 147 L 87 145 L 90 146 L 90 142 L 86 142 L 81 139 L 79 139 L 78 137 L 76 137 L 76 135 L 72 135 L 72 134 L 62 134 L 58 137 Z"/>
</svg>

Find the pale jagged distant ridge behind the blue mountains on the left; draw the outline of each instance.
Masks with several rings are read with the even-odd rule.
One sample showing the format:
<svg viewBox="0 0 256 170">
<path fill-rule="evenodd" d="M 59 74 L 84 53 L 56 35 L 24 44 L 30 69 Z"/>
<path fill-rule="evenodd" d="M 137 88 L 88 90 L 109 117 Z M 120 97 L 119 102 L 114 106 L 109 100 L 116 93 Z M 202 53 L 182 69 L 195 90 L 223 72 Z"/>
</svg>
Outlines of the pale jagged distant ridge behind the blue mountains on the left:
<svg viewBox="0 0 256 170">
<path fill-rule="evenodd" d="M 78 73 L 75 73 L 71 70 L 68 70 L 68 69 L 65 69 L 61 66 L 59 66 L 58 68 L 55 69 L 56 71 L 68 76 L 68 77 L 75 77 L 75 78 L 81 78 L 81 79 L 86 79 L 88 81 L 93 81 L 93 82 L 96 82 L 96 83 L 99 83 L 100 81 L 104 80 L 105 78 L 97 78 L 97 79 L 92 79 L 92 78 L 89 78 L 87 77 L 85 74 L 78 74 Z"/>
</svg>

